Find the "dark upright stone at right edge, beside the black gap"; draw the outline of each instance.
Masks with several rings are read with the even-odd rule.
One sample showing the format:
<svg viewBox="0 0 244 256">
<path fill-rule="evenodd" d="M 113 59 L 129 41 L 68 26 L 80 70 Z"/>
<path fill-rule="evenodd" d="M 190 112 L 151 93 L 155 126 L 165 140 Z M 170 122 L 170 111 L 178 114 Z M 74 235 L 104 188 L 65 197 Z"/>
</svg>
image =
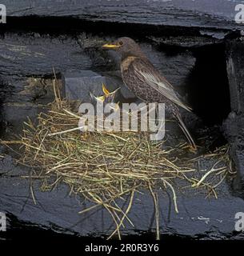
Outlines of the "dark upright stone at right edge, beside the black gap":
<svg viewBox="0 0 244 256">
<path fill-rule="evenodd" d="M 227 72 L 230 82 L 232 112 L 224 122 L 226 138 L 230 142 L 230 154 L 237 170 L 234 190 L 244 196 L 244 42 L 241 39 L 227 44 Z"/>
</svg>

